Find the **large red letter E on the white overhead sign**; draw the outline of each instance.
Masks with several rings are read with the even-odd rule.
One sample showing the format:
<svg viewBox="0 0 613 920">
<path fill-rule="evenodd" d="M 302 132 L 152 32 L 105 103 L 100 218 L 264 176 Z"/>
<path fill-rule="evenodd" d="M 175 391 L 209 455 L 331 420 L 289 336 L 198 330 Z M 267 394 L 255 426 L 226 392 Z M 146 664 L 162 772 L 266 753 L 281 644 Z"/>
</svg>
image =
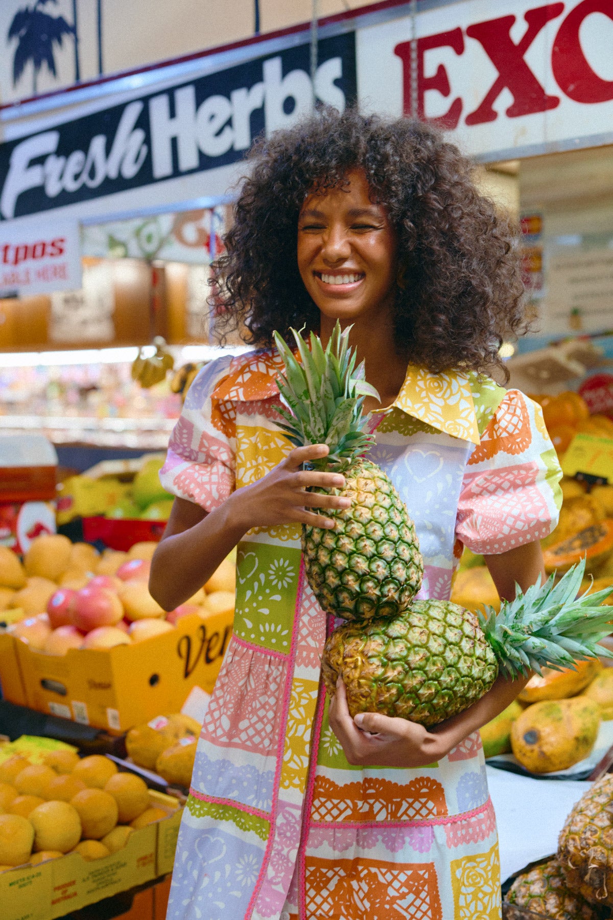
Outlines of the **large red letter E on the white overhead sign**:
<svg viewBox="0 0 613 920">
<path fill-rule="evenodd" d="M 424 75 L 424 55 L 431 48 L 453 48 L 456 54 L 464 51 L 464 37 L 460 27 L 449 32 L 439 32 L 437 35 L 428 35 L 417 39 L 417 117 L 420 121 L 429 124 L 438 124 L 445 128 L 457 128 L 462 111 L 462 100 L 454 99 L 444 115 L 437 118 L 427 118 L 424 106 L 424 97 L 428 89 L 436 89 L 441 96 L 447 97 L 451 92 L 447 71 L 442 63 L 438 64 L 437 73 L 432 76 Z M 394 54 L 403 62 L 403 110 L 405 115 L 411 114 L 411 42 L 401 41 L 393 50 Z"/>
</svg>

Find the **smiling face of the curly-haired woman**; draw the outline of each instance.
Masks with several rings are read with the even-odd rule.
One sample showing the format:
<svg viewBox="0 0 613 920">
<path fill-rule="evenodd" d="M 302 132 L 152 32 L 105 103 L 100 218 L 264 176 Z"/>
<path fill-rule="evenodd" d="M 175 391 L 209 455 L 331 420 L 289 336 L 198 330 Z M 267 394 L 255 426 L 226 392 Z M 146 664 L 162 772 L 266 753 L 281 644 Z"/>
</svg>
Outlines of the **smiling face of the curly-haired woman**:
<svg viewBox="0 0 613 920">
<path fill-rule="evenodd" d="M 341 322 L 381 318 L 392 309 L 396 234 L 388 214 L 369 198 L 361 169 L 348 186 L 307 197 L 298 220 L 298 269 L 324 316 Z"/>
</svg>

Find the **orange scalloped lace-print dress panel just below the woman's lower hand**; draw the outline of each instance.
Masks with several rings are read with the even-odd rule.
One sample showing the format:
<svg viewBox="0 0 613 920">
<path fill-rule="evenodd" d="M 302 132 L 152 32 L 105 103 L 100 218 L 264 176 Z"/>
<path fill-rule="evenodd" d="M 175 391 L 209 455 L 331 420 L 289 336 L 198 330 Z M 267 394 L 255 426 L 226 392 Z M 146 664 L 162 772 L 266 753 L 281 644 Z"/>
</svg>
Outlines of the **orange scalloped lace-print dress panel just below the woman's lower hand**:
<svg viewBox="0 0 613 920">
<path fill-rule="evenodd" d="M 326 776 L 315 777 L 313 822 L 424 821 L 442 814 L 447 814 L 445 790 L 430 776 L 402 786 L 372 777 L 339 786 Z"/>
</svg>

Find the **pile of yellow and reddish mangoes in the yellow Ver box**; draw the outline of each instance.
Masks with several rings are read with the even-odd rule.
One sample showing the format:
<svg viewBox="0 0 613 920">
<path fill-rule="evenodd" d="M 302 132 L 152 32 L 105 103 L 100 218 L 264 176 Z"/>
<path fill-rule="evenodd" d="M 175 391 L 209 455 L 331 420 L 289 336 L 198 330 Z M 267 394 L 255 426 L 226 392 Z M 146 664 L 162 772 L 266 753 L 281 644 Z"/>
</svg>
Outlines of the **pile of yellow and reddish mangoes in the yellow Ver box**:
<svg viewBox="0 0 613 920">
<path fill-rule="evenodd" d="M 233 611 L 234 564 L 228 558 L 185 604 L 166 613 L 147 587 L 155 546 L 137 543 L 128 553 L 99 555 L 66 536 L 40 535 L 23 562 L 0 546 L 0 617 L 7 631 L 32 649 L 65 655 L 139 642 L 173 629 L 188 614 Z"/>
</svg>

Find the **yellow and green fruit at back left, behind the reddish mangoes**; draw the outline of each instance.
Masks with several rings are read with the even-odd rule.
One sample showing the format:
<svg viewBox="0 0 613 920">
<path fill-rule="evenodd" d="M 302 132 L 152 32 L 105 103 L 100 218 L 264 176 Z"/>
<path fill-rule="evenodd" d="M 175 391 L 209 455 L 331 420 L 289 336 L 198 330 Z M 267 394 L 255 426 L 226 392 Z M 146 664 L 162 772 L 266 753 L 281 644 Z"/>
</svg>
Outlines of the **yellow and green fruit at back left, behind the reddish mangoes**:
<svg viewBox="0 0 613 920">
<path fill-rule="evenodd" d="M 83 473 L 64 479 L 58 487 L 58 523 L 98 514 L 108 518 L 167 521 L 174 496 L 160 485 L 159 472 L 164 461 L 164 456 L 150 456 L 133 478 L 131 475 L 90 477 Z"/>
</svg>

